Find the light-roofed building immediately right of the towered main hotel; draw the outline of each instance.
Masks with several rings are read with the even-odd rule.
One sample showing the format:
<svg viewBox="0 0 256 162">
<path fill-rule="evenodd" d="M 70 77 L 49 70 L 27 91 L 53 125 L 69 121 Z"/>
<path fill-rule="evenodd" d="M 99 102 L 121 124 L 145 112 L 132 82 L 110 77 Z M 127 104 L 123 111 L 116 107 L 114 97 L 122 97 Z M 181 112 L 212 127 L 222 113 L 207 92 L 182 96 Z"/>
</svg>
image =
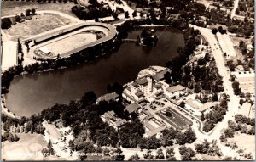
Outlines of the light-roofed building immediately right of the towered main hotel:
<svg viewBox="0 0 256 162">
<path fill-rule="evenodd" d="M 181 85 L 176 85 L 172 87 L 168 87 L 164 90 L 167 97 L 172 98 L 176 97 L 179 98 L 180 96 L 183 96 L 186 94 L 186 87 L 183 87 Z"/>
</svg>

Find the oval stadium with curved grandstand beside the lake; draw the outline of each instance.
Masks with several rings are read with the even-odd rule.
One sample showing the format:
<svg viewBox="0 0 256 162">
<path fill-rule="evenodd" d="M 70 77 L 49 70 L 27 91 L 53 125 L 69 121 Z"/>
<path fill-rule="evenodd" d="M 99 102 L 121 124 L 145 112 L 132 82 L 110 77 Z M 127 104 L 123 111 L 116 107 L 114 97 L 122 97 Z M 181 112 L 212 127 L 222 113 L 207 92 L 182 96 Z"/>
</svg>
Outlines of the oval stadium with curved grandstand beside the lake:
<svg viewBox="0 0 256 162">
<path fill-rule="evenodd" d="M 32 42 L 30 56 L 42 59 L 68 57 L 85 48 L 101 45 L 113 40 L 116 36 L 112 25 L 98 22 L 82 22 L 67 25 L 65 28 L 53 30 L 44 35 L 30 37 L 24 41 Z"/>
</svg>

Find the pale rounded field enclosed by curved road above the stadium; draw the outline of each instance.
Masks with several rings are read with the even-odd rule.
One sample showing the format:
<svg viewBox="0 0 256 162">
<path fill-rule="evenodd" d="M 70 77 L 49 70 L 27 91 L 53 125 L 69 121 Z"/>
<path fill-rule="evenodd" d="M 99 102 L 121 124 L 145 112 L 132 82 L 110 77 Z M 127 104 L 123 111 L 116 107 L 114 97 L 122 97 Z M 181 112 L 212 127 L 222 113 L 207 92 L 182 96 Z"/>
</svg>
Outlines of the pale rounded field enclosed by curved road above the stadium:
<svg viewBox="0 0 256 162">
<path fill-rule="evenodd" d="M 73 20 L 61 17 L 58 14 L 38 14 L 32 16 L 32 20 L 25 20 L 22 23 L 12 25 L 8 30 L 3 30 L 11 36 L 30 37 L 38 35 L 44 31 L 74 23 Z"/>
</svg>

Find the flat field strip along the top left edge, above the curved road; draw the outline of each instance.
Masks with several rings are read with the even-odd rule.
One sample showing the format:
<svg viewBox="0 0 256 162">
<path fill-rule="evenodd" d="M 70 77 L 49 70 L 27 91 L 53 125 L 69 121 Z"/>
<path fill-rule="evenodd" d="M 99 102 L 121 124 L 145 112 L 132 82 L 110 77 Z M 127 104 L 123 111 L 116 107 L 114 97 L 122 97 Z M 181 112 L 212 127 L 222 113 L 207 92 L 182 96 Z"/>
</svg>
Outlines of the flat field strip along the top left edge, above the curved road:
<svg viewBox="0 0 256 162">
<path fill-rule="evenodd" d="M 75 5 L 74 3 L 33 3 L 33 2 L 15 2 L 15 1 L 3 1 L 1 2 L 1 16 L 8 16 L 13 14 L 24 13 L 26 9 L 35 8 L 38 10 L 55 10 L 61 13 L 69 14 L 76 17 L 72 12 L 71 8 Z"/>
</svg>

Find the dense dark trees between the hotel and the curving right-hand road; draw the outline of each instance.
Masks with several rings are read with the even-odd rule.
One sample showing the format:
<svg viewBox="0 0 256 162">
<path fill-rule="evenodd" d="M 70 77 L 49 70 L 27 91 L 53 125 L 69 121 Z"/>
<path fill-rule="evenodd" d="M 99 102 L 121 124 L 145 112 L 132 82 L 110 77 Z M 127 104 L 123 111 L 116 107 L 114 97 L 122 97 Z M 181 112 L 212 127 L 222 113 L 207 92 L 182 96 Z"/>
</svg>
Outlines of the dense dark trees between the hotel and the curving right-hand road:
<svg viewBox="0 0 256 162">
<path fill-rule="evenodd" d="M 184 87 L 194 89 L 195 93 L 212 94 L 212 98 L 207 98 L 206 95 L 200 96 L 198 99 L 202 103 L 206 103 L 208 99 L 211 101 L 218 100 L 216 93 L 224 91 L 222 76 L 218 74 L 215 60 L 210 60 L 209 53 L 206 53 L 205 57 L 198 59 L 197 64 L 185 64 L 182 71 L 183 75 L 180 83 Z"/>
</svg>

